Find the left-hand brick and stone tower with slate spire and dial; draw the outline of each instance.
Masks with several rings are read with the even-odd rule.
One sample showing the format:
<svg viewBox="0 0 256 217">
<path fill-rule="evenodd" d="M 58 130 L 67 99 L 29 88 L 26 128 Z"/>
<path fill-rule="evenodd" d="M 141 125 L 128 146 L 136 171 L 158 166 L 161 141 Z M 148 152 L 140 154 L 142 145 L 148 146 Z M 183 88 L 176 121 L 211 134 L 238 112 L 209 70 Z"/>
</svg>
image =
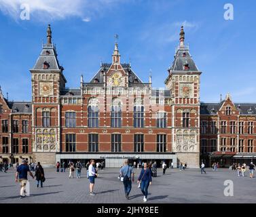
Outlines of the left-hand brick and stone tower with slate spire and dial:
<svg viewBox="0 0 256 217">
<path fill-rule="evenodd" d="M 64 68 L 57 59 L 52 43 L 50 24 L 47 43 L 30 70 L 32 76 L 33 109 L 33 158 L 44 165 L 55 165 L 56 152 L 60 151 L 60 91 L 67 82 L 62 74 Z"/>
</svg>

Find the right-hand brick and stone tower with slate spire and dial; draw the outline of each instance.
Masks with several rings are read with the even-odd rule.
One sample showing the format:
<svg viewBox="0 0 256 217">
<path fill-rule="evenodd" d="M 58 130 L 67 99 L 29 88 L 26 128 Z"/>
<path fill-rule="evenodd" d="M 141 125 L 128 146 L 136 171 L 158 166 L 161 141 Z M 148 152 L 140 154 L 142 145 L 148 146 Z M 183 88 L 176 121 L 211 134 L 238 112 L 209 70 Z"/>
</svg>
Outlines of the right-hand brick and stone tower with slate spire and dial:
<svg viewBox="0 0 256 217">
<path fill-rule="evenodd" d="M 175 60 L 168 68 L 166 87 L 172 96 L 172 151 L 178 161 L 199 166 L 200 157 L 200 75 L 189 47 L 184 45 L 181 26 Z"/>
</svg>

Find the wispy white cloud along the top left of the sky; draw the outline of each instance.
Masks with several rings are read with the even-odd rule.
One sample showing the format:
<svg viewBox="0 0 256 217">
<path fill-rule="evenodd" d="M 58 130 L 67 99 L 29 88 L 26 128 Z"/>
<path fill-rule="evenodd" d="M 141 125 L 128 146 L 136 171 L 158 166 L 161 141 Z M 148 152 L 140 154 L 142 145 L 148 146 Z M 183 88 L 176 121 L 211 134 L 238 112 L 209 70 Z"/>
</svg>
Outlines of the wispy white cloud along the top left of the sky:
<svg viewBox="0 0 256 217">
<path fill-rule="evenodd" d="M 89 22 L 92 15 L 112 7 L 118 0 L 0 0 L 3 14 L 19 20 L 22 4 L 29 5 L 31 20 L 62 20 L 68 17 L 79 17 Z M 124 2 L 123 0 L 122 2 Z"/>
</svg>

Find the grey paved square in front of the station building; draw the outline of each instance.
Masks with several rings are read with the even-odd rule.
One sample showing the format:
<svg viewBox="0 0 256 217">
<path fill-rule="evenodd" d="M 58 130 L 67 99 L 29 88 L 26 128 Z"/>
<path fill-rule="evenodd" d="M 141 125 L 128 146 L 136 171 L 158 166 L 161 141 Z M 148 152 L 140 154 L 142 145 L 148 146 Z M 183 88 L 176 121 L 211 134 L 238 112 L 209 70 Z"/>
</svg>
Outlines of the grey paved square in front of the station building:
<svg viewBox="0 0 256 217">
<path fill-rule="evenodd" d="M 132 184 L 130 200 L 124 197 L 124 187 L 117 179 L 118 169 L 105 169 L 96 178 L 95 193 L 89 195 L 89 180 L 86 170 L 82 170 L 80 179 L 69 179 L 69 173 L 57 173 L 54 169 L 45 169 L 46 181 L 43 188 L 36 187 L 35 180 L 30 179 L 31 196 L 20 199 L 20 186 L 14 181 L 14 170 L 7 174 L 0 173 L 0 203 L 144 203 L 143 195 Z M 134 170 L 135 177 L 141 170 Z M 180 172 L 168 169 L 166 174 L 153 178 L 149 186 L 147 203 L 256 203 L 256 178 L 238 177 L 234 171 L 206 169 L 207 174 L 201 174 L 200 169 L 187 169 Z M 224 181 L 234 182 L 234 196 L 225 197 Z"/>
</svg>

